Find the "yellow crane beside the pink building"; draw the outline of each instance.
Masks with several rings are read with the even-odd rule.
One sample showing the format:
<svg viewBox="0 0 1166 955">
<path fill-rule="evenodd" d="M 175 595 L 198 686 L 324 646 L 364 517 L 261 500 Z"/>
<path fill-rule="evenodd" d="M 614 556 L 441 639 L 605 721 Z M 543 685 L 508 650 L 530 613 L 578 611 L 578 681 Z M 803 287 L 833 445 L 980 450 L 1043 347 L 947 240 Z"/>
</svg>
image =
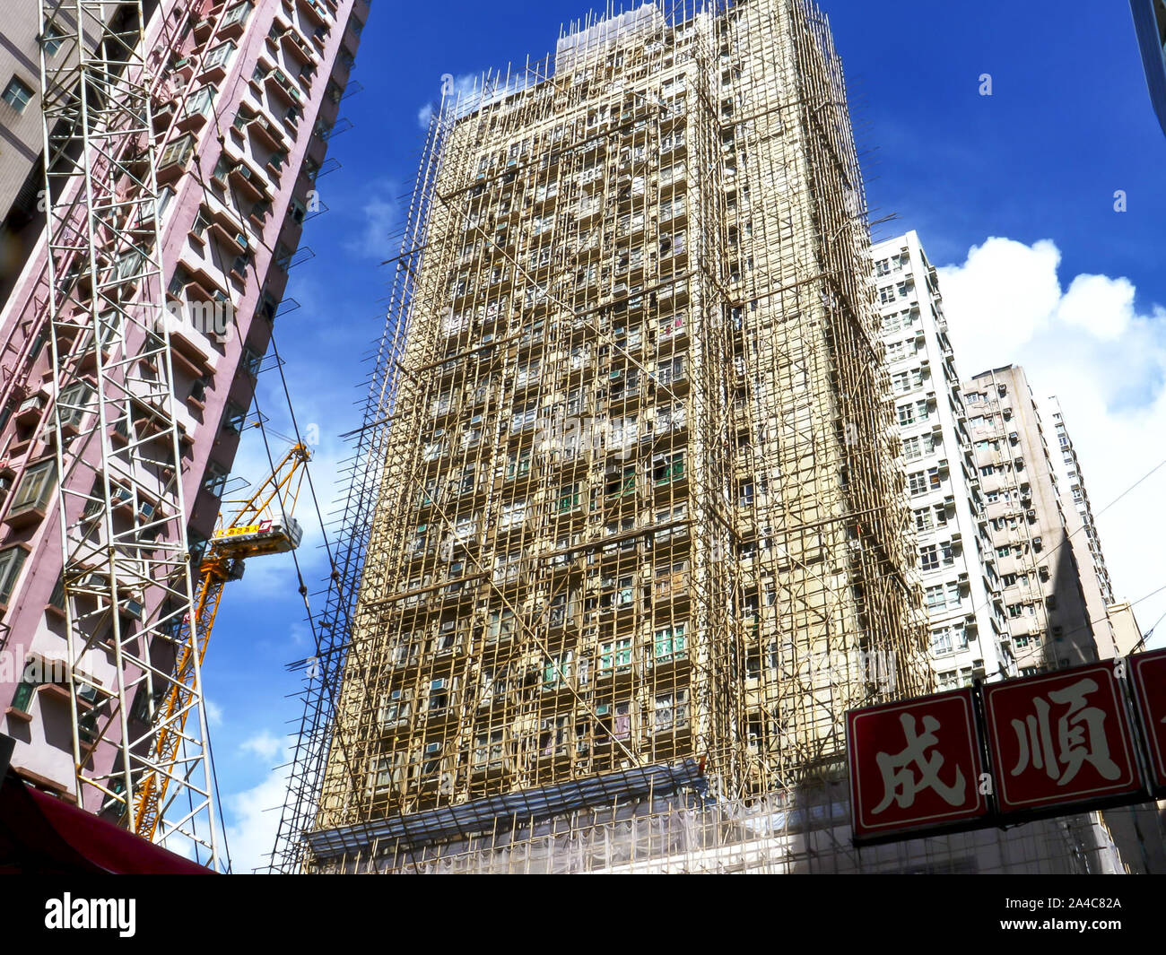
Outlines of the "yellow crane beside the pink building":
<svg viewBox="0 0 1166 955">
<path fill-rule="evenodd" d="M 167 729 L 156 738 L 153 760 L 155 768 L 143 777 L 135 800 L 134 831 L 145 838 L 154 840 L 159 820 L 166 810 L 166 791 L 170 779 L 182 777 L 182 767 L 175 763 L 187 715 L 195 698 L 191 686 L 195 674 L 194 653 L 190 647 L 196 647 L 201 667 L 215 626 L 215 615 L 218 613 L 219 601 L 223 598 L 223 588 L 227 582 L 243 576 L 245 560 L 265 554 L 286 554 L 300 546 L 303 532 L 293 512 L 300 497 L 304 465 L 310 458 L 311 451 L 307 445 L 295 443 L 250 498 L 225 501 L 238 505 L 230 520 L 219 514 L 219 527 L 211 536 L 198 568 L 194 603 L 197 639 L 187 639 L 189 633 L 180 634 L 182 639 L 177 645 L 183 647 L 183 653 L 175 661 L 177 679 L 169 684 L 169 690 L 152 712 L 152 718 L 161 721 Z M 184 619 L 183 630 L 189 626 L 190 622 Z"/>
</svg>

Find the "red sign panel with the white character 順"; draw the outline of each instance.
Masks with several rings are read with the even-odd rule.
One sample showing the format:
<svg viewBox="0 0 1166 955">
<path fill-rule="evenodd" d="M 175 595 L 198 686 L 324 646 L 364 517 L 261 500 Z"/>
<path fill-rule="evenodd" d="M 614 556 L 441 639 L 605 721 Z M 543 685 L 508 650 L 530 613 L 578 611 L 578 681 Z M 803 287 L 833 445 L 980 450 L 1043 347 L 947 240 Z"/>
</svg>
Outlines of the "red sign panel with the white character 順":
<svg viewBox="0 0 1166 955">
<path fill-rule="evenodd" d="M 1112 661 L 986 686 L 984 711 L 1000 813 L 1142 788 Z"/>
</svg>

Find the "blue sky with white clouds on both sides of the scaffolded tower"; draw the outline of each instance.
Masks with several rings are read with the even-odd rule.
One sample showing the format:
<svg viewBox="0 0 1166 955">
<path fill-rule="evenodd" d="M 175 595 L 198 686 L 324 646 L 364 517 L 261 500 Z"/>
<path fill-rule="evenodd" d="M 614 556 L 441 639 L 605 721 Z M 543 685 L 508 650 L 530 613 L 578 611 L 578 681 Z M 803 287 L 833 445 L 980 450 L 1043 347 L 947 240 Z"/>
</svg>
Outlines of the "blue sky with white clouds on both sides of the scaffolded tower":
<svg viewBox="0 0 1166 955">
<path fill-rule="evenodd" d="M 1166 138 L 1154 118 L 1124 2 L 1096 0 L 827 0 L 852 86 L 876 230 L 914 229 L 941 278 L 964 377 L 1025 364 L 1035 396 L 1058 393 L 1096 508 L 1166 457 Z M 312 219 L 276 321 L 301 429 L 316 424 L 314 478 L 326 505 L 344 456 L 337 435 L 363 399 L 360 357 L 384 325 L 388 233 L 401 223 L 422 146 L 419 112 L 441 77 L 541 57 L 560 23 L 586 7 L 538 3 L 391 3 L 375 0 L 343 104 L 354 127 L 333 140 L 342 168 L 319 180 L 329 208 Z M 984 73 L 992 94 L 981 96 Z M 1115 211 L 1123 190 L 1126 211 Z M 1080 276 L 1091 276 L 1089 279 Z M 262 409 L 289 431 L 274 372 Z M 264 473 L 244 445 L 236 473 Z M 1118 594 L 1137 599 L 1166 584 L 1159 501 L 1166 468 L 1100 520 Z M 309 585 L 326 571 L 309 513 L 301 552 Z M 252 561 L 229 585 L 204 667 L 217 772 L 237 870 L 271 844 L 282 782 L 288 698 L 285 663 L 310 652 L 287 557 Z M 1166 594 L 1136 608 L 1143 626 L 1166 613 Z M 1159 631 L 1166 632 L 1166 624 Z M 1157 640 L 1154 641 L 1158 642 Z"/>
</svg>

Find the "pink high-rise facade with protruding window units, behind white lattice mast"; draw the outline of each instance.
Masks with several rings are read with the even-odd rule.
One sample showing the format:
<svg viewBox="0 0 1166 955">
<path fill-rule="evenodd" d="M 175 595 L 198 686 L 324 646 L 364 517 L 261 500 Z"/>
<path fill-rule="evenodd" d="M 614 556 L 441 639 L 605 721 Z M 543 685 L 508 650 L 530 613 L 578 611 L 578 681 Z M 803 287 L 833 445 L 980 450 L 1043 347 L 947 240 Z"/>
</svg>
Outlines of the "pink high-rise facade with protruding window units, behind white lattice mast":
<svg viewBox="0 0 1166 955">
<path fill-rule="evenodd" d="M 35 21 L 37 5 L 29 6 Z M 125 6 L 128 13 L 112 15 L 140 9 Z M 0 670 L 0 710 L 5 732 L 16 739 L 13 768 L 94 812 L 125 792 L 118 753 L 125 753 L 126 740 L 148 737 L 159 703 L 150 687 L 170 679 L 177 663 L 164 648 L 142 653 L 149 663 L 138 669 L 118 654 L 133 646 L 134 634 L 145 641 L 147 629 L 155 632 L 162 616 L 175 611 L 127 590 L 115 622 L 92 611 L 86 617 L 80 603 L 66 617 L 66 592 L 91 580 L 97 594 L 107 580 L 94 566 L 96 576 L 80 581 L 70 564 L 66 590 L 62 510 L 83 524 L 91 505 L 92 513 L 100 508 L 108 482 L 112 531 L 94 529 L 93 540 L 112 533 L 111 540 L 128 541 L 119 546 L 136 547 L 147 562 L 150 548 L 173 546 L 173 528 L 184 525 L 190 553 L 180 560 L 197 573 L 368 10 L 360 0 L 178 0 L 147 3 L 146 12 L 142 45 L 127 52 L 126 79 L 138 82 L 133 64 L 140 57 L 142 82 L 150 84 L 149 111 L 136 100 L 133 111 L 135 118 L 149 115 L 152 129 L 140 131 L 129 152 L 98 156 L 93 169 L 94 177 L 108 170 L 112 182 L 94 188 L 107 189 L 126 208 L 135 189 L 155 190 L 148 210 L 135 213 L 138 226 L 94 219 L 96 273 L 83 266 L 70 271 L 52 251 L 50 282 L 50 247 L 58 246 L 42 234 L 0 313 L 0 647 L 6 659 L 20 661 Z M 27 26 L 21 24 L 24 33 Z M 35 24 L 30 29 L 37 31 Z M 52 56 L 56 40 L 42 42 Z M 54 97 L 68 101 L 68 91 L 54 87 Z M 29 103 L 23 118 L 40 126 L 27 115 L 34 106 Z M 92 135 L 115 141 L 96 127 Z M 61 159 L 61 136 L 50 129 L 50 173 Z M 152 166 L 135 152 L 146 136 L 154 146 Z M 78 195 L 70 188 L 56 198 L 54 227 L 68 222 L 56 210 L 70 215 Z M 134 237 L 141 248 L 127 250 L 124 244 L 138 241 Z M 156 279 L 128 281 L 147 258 L 157 262 Z M 134 296 L 148 302 L 149 281 L 157 283 L 173 319 L 161 363 L 148 351 L 150 336 L 140 337 L 143 325 L 111 318 L 131 314 Z M 65 330 L 73 321 L 78 331 L 70 337 Z M 166 381 L 169 394 L 147 408 L 141 389 L 150 381 Z M 159 421 L 177 429 L 177 471 L 156 441 Z M 122 478 L 113 476 L 122 472 L 133 493 L 126 492 L 129 484 L 117 484 Z M 167 482 L 181 485 L 175 499 L 185 501 L 185 513 L 166 513 Z M 63 508 L 61 493 L 71 496 Z M 84 513 L 73 499 L 87 500 Z M 80 645 L 70 642 L 78 637 L 66 632 L 66 618 L 86 627 Z M 183 625 L 189 620 L 180 612 L 175 626 Z M 65 679 L 59 666 L 73 658 L 80 662 Z M 36 666 L 24 666 L 29 661 Z M 139 782 L 131 777 L 131 786 Z"/>
</svg>

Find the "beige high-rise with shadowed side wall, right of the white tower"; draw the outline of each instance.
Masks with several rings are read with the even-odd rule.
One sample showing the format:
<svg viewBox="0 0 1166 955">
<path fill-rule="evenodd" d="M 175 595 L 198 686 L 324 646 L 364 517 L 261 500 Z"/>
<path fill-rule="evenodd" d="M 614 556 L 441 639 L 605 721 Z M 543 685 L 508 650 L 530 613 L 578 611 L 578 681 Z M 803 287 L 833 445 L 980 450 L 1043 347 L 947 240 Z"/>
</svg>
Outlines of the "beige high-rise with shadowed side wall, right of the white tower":
<svg viewBox="0 0 1166 955">
<path fill-rule="evenodd" d="M 963 392 L 1017 667 L 1030 674 L 1098 659 L 1056 471 L 1024 368 L 982 372 Z"/>
</svg>

